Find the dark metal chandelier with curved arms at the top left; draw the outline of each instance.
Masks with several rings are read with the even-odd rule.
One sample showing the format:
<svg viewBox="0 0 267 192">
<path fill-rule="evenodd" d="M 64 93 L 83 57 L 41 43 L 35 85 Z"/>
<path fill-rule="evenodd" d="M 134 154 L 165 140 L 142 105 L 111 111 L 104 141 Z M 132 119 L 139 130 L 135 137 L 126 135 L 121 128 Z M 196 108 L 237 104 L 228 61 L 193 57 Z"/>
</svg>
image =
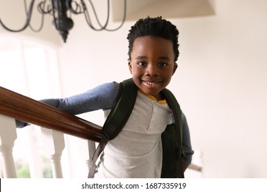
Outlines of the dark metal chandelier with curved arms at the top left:
<svg viewBox="0 0 267 192">
<path fill-rule="evenodd" d="M 90 14 L 88 12 L 88 8 L 86 7 L 86 3 L 84 0 L 44 0 L 40 1 L 37 5 L 37 10 L 40 14 L 42 14 L 42 20 L 40 23 L 40 28 L 39 29 L 34 29 L 31 27 L 30 22 L 31 22 L 31 14 L 34 9 L 34 3 L 35 0 L 31 0 L 29 3 L 29 8 L 27 8 L 27 2 L 24 0 L 24 5 L 25 5 L 25 12 L 27 15 L 25 24 L 21 29 L 10 29 L 6 25 L 3 24 L 3 21 L 1 21 L 0 18 L 0 24 L 3 26 L 4 29 L 7 29 L 10 32 L 22 32 L 24 29 L 29 27 L 32 31 L 34 32 L 40 32 L 42 29 L 43 23 L 44 23 L 44 14 L 51 14 L 53 16 L 53 25 L 55 26 L 55 29 L 60 32 L 60 35 L 62 36 L 62 39 L 64 40 L 64 43 L 66 43 L 66 38 L 68 36 L 68 31 L 73 28 L 73 20 L 71 19 L 70 15 L 71 14 L 84 14 L 86 18 L 86 23 L 88 26 L 95 30 L 95 31 L 116 31 L 120 29 L 120 27 L 123 26 L 123 23 L 125 22 L 126 18 L 126 0 L 124 0 L 124 12 L 123 12 L 123 20 L 120 25 L 114 29 L 108 29 L 107 25 L 110 20 L 110 0 L 107 0 L 107 19 L 105 23 L 102 25 L 99 22 L 99 18 L 97 16 L 97 12 L 94 9 L 94 5 L 91 0 L 88 0 L 89 4 L 92 8 L 92 12 L 94 14 L 95 20 L 97 21 L 97 27 L 92 24 L 92 21 L 90 19 Z"/>
</svg>

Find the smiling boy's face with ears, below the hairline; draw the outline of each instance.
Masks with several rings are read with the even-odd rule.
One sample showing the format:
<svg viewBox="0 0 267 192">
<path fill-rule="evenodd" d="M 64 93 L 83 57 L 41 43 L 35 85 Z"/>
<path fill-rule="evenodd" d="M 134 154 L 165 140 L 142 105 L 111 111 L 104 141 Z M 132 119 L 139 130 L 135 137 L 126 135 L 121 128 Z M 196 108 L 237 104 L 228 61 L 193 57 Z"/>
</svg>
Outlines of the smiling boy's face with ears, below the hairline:
<svg viewBox="0 0 267 192">
<path fill-rule="evenodd" d="M 157 100 L 163 99 L 160 91 L 169 84 L 177 69 L 173 43 L 151 36 L 136 38 L 129 69 L 138 88 Z"/>
</svg>

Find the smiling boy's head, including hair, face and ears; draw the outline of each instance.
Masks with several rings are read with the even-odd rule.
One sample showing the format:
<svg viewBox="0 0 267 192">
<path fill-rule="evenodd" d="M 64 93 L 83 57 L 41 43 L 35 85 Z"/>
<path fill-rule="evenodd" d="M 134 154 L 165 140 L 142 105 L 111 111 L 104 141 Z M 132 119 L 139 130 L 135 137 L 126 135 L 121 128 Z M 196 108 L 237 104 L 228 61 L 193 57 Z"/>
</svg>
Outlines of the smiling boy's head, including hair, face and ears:
<svg viewBox="0 0 267 192">
<path fill-rule="evenodd" d="M 161 91 L 177 69 L 178 30 L 169 21 L 140 19 L 129 30 L 129 70 L 133 82 L 148 95 L 161 100 Z"/>
</svg>

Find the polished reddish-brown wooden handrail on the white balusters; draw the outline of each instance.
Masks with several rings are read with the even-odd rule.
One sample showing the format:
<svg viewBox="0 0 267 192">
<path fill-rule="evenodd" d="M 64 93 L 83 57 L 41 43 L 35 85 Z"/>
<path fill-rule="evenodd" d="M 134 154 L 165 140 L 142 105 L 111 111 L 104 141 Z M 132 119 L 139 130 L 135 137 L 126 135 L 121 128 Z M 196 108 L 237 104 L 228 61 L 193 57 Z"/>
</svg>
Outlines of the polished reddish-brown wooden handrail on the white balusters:
<svg viewBox="0 0 267 192">
<path fill-rule="evenodd" d="M 99 142 L 101 126 L 0 86 L 0 114 Z"/>
</svg>

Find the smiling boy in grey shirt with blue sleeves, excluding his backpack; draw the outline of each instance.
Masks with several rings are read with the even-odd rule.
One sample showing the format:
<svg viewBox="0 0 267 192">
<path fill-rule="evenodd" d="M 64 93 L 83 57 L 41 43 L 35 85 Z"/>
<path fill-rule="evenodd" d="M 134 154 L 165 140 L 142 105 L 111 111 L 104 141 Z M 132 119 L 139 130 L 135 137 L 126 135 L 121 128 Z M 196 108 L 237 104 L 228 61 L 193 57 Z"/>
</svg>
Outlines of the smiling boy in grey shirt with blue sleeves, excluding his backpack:
<svg viewBox="0 0 267 192">
<path fill-rule="evenodd" d="M 173 112 L 161 91 L 177 69 L 178 34 L 175 25 L 162 17 L 140 19 L 129 30 L 129 71 L 139 88 L 136 104 L 123 130 L 107 143 L 94 178 L 160 178 L 161 134 L 166 125 L 174 122 Z M 112 82 L 73 97 L 42 102 L 73 115 L 102 109 L 107 117 L 118 88 L 118 83 Z M 194 152 L 183 114 L 182 121 L 186 170 Z"/>
</svg>

